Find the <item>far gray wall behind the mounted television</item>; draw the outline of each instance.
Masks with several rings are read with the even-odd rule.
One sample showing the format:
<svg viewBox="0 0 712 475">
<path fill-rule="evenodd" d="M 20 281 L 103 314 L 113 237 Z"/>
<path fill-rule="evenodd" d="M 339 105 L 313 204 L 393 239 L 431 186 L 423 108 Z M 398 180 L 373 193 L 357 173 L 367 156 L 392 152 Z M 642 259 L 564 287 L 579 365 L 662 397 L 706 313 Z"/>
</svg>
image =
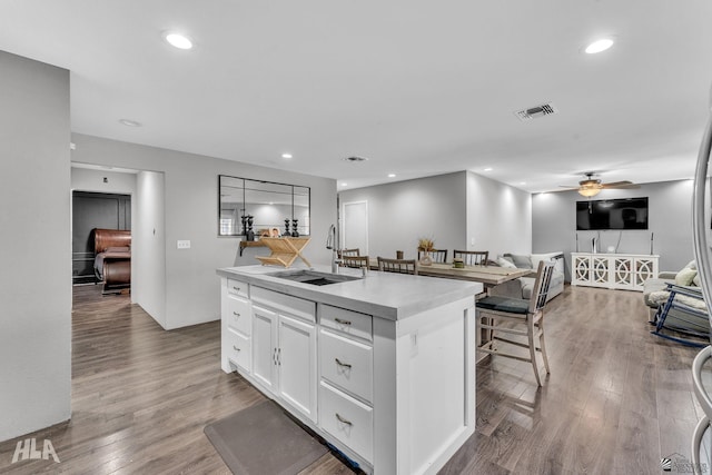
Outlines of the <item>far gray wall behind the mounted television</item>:
<svg viewBox="0 0 712 475">
<path fill-rule="evenodd" d="M 603 190 L 593 199 L 649 197 L 647 230 L 600 231 L 600 250 L 615 246 L 621 254 L 660 255 L 661 270 L 678 270 L 693 259 L 692 180 L 641 185 L 639 189 Z M 571 253 L 591 251 L 591 238 L 599 231 L 577 231 L 575 202 L 586 198 L 576 191 L 538 194 L 532 198 L 533 248 L 535 251 L 562 250 L 566 254 L 566 278 L 570 279 Z"/>
</svg>

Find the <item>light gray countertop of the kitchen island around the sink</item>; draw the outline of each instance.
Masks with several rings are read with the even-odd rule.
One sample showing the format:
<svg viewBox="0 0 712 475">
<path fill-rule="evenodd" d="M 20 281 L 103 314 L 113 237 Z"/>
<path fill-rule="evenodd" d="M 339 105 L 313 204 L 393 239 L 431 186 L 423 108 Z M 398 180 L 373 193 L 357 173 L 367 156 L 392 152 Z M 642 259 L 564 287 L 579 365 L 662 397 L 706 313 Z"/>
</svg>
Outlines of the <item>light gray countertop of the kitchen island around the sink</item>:
<svg viewBox="0 0 712 475">
<path fill-rule="evenodd" d="M 465 297 L 473 297 L 483 290 L 479 283 L 445 279 L 426 276 L 368 271 L 367 276 L 325 286 L 303 284 L 267 274 L 314 269 L 329 273 L 328 266 L 293 266 L 289 269 L 276 266 L 241 266 L 217 269 L 220 277 L 237 280 L 300 297 L 307 300 L 334 305 L 387 318 L 399 320 L 412 315 L 439 307 Z M 360 277 L 359 269 L 340 268 L 339 274 Z"/>
</svg>

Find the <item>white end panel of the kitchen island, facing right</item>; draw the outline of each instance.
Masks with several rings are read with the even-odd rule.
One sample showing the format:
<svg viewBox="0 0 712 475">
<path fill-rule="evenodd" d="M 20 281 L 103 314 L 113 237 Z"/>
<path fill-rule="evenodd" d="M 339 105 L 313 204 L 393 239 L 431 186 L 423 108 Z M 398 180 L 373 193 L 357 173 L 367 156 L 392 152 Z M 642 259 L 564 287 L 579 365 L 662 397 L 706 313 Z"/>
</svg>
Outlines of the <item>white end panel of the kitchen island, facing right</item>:
<svg viewBox="0 0 712 475">
<path fill-rule="evenodd" d="M 397 473 L 436 473 L 474 433 L 474 335 L 473 297 L 397 323 Z"/>
</svg>

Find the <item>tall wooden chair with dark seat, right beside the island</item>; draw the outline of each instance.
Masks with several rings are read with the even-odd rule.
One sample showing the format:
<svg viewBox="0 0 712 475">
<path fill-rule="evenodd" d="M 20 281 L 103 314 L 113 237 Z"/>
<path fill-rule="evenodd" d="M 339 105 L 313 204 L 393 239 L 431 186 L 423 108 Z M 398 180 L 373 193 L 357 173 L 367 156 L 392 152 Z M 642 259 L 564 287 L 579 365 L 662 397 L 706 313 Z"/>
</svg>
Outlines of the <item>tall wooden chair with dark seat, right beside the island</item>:
<svg viewBox="0 0 712 475">
<path fill-rule="evenodd" d="M 491 355 L 504 356 L 507 358 L 528 362 L 534 368 L 534 377 L 536 384 L 542 385 L 538 376 L 538 364 L 536 353 L 542 354 L 544 368 L 550 374 L 548 358 L 546 357 L 546 347 L 544 345 L 544 306 L 546 305 L 546 294 L 552 280 L 554 270 L 553 261 L 541 261 L 536 270 L 536 279 L 534 288 L 528 300 L 521 298 L 508 298 L 490 296 L 477 300 L 476 303 L 476 331 L 483 335 L 482 330 L 487 330 L 487 337 L 477 346 L 477 349 Z M 515 335 L 520 340 L 501 337 L 500 334 Z M 526 342 L 522 342 L 521 337 L 526 337 Z M 535 345 L 534 338 L 538 338 L 538 347 Z M 502 342 L 516 347 L 528 348 L 528 357 L 521 354 L 502 352 L 495 347 L 496 342 Z"/>
</svg>

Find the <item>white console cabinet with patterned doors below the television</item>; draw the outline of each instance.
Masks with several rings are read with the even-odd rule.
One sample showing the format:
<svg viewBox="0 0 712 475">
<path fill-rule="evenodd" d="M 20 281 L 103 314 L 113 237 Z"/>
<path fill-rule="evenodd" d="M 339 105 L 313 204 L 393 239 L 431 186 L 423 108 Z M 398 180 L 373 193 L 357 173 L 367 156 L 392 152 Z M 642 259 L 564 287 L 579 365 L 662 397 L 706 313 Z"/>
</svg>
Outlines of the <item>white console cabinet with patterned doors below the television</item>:
<svg viewBox="0 0 712 475">
<path fill-rule="evenodd" d="M 657 277 L 660 256 L 571 253 L 571 285 L 643 291 Z"/>
</svg>

